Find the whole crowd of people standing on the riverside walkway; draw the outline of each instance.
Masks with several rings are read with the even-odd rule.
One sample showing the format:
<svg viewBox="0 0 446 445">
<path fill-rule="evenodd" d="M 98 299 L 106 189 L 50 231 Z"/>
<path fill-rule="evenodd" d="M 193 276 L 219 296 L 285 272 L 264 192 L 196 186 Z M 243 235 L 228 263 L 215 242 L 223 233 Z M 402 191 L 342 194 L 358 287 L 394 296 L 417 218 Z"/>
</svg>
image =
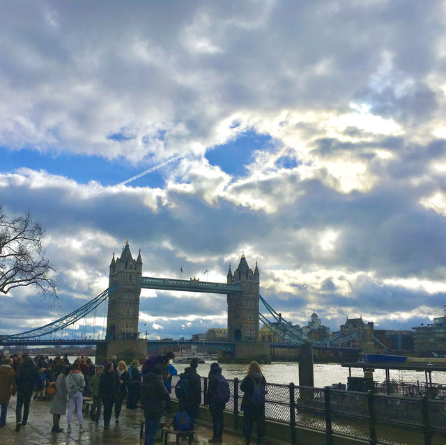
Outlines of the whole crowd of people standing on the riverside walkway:
<svg viewBox="0 0 446 445">
<path fill-rule="evenodd" d="M 52 414 L 52 432 L 63 431 L 61 416 L 66 416 L 67 432 L 70 432 L 72 416 L 75 413 L 79 431 L 82 432 L 83 398 L 90 396 L 90 420 L 98 424 L 102 414 L 105 430 L 110 427 L 113 413 L 114 421 L 118 424 L 124 401 L 130 411 L 139 412 L 141 406 L 145 419 L 144 445 L 153 445 L 162 416 L 173 414 L 170 393 L 172 376 L 177 374 L 171 364 L 174 357 L 173 352 L 148 357 L 142 366 L 137 359 L 128 366 L 125 361 L 117 361 L 116 356 L 105 359 L 98 366 L 95 366 L 89 357 L 78 357 L 72 364 L 66 355 L 54 359 L 43 355 L 31 359 L 26 354 L 21 357 L 0 357 L 0 428 L 6 425 L 9 400 L 17 393 L 16 431 L 26 426 L 31 398 L 51 398 L 49 412 Z M 194 430 L 202 402 L 201 376 L 197 373 L 197 367 L 197 359 L 192 359 L 190 366 L 179 376 L 175 387 L 179 410 L 173 418 L 174 428 Z M 260 366 L 256 361 L 252 361 L 240 384 L 240 390 L 243 391 L 241 409 L 244 412 L 243 435 L 246 445 L 251 443 L 254 423 L 258 445 L 264 435 L 265 387 L 266 380 Z M 222 375 L 222 368 L 215 362 L 210 365 L 208 387 L 203 400 L 204 404 L 208 405 L 213 419 L 213 437 L 209 443 L 222 443 L 224 409 L 229 398 L 229 384 Z M 192 437 L 192 442 L 198 440 Z"/>
</svg>

